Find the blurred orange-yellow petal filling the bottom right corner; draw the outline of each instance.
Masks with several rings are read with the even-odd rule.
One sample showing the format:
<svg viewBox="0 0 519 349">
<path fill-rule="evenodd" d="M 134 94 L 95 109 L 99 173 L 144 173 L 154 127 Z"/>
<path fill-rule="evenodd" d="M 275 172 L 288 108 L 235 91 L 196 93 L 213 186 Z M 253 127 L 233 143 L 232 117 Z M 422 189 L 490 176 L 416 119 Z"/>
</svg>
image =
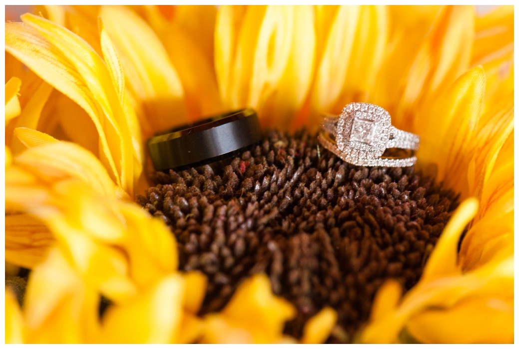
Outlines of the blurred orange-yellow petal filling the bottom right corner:
<svg viewBox="0 0 519 349">
<path fill-rule="evenodd" d="M 513 343 L 513 299 L 465 299 L 448 310 L 413 317 L 407 330 L 421 343 Z"/>
</svg>

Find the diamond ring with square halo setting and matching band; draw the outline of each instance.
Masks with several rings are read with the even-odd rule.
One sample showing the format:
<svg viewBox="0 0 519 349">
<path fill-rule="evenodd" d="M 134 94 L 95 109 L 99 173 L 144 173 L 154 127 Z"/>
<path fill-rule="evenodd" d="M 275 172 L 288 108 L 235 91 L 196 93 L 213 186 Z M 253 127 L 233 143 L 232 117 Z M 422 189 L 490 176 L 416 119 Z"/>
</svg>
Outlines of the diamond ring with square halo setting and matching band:
<svg viewBox="0 0 519 349">
<path fill-rule="evenodd" d="M 391 125 L 378 105 L 350 103 L 339 116 L 326 115 L 318 139 L 329 151 L 357 166 L 407 167 L 416 163 L 420 137 Z"/>
</svg>

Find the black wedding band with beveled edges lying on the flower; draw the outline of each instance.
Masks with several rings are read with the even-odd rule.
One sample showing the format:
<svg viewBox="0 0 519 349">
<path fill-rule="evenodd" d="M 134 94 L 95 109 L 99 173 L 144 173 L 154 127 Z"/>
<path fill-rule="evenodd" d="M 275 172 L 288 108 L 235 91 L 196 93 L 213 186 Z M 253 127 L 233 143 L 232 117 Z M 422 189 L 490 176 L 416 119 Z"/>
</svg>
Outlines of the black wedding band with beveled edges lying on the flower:
<svg viewBox="0 0 519 349">
<path fill-rule="evenodd" d="M 149 154 L 157 171 L 199 166 L 233 156 L 261 139 L 253 109 L 218 114 L 152 137 Z"/>
</svg>

